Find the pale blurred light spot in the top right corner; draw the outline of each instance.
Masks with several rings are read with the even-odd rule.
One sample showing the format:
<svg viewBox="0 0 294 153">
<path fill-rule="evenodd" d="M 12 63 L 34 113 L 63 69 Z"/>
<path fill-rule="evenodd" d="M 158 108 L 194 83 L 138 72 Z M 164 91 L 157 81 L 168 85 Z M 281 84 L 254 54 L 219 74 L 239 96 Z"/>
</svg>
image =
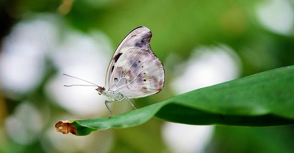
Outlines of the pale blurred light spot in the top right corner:
<svg viewBox="0 0 294 153">
<path fill-rule="evenodd" d="M 256 7 L 260 23 L 280 35 L 293 35 L 294 9 L 288 0 L 265 0 Z"/>
</svg>

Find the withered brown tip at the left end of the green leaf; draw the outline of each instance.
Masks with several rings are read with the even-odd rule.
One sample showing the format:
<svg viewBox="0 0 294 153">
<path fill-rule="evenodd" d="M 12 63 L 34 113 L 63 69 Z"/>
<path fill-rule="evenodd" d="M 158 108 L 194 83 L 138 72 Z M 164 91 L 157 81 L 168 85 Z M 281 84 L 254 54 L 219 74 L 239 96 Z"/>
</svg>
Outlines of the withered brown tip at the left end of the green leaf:
<svg viewBox="0 0 294 153">
<path fill-rule="evenodd" d="M 58 121 L 54 127 L 56 128 L 55 132 L 61 132 L 63 134 L 72 133 L 74 135 L 77 133 L 76 128 L 69 121 Z"/>
</svg>

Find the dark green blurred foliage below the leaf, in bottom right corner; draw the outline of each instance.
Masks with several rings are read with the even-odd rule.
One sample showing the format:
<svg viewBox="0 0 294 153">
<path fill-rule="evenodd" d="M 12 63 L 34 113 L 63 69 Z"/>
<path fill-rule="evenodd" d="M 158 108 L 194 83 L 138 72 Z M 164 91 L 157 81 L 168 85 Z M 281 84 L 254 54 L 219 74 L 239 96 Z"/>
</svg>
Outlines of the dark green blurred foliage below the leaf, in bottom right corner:
<svg viewBox="0 0 294 153">
<path fill-rule="evenodd" d="M 227 133 L 224 135 L 223 133 Z M 208 152 L 293 152 L 293 127 L 271 128 L 218 126 Z M 234 145 L 232 147 L 231 145 Z M 217 150 L 216 150 L 217 148 Z"/>
</svg>

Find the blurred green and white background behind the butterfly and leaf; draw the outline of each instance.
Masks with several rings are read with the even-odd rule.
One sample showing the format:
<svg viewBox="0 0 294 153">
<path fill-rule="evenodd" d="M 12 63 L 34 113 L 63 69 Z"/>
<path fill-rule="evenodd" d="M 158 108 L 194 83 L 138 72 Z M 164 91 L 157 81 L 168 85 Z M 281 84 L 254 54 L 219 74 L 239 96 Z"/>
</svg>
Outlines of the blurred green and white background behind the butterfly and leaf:
<svg viewBox="0 0 294 153">
<path fill-rule="evenodd" d="M 294 152 L 294 126 L 191 126 L 156 118 L 84 137 L 54 133 L 65 119 L 108 116 L 104 85 L 114 49 L 144 25 L 166 83 L 137 107 L 294 65 L 293 0 L 0 1 L 0 152 Z M 213 94 L 213 93 L 212 93 Z M 111 104 L 113 114 L 131 111 Z M 197 118 L 196 118 L 197 119 Z"/>
</svg>

